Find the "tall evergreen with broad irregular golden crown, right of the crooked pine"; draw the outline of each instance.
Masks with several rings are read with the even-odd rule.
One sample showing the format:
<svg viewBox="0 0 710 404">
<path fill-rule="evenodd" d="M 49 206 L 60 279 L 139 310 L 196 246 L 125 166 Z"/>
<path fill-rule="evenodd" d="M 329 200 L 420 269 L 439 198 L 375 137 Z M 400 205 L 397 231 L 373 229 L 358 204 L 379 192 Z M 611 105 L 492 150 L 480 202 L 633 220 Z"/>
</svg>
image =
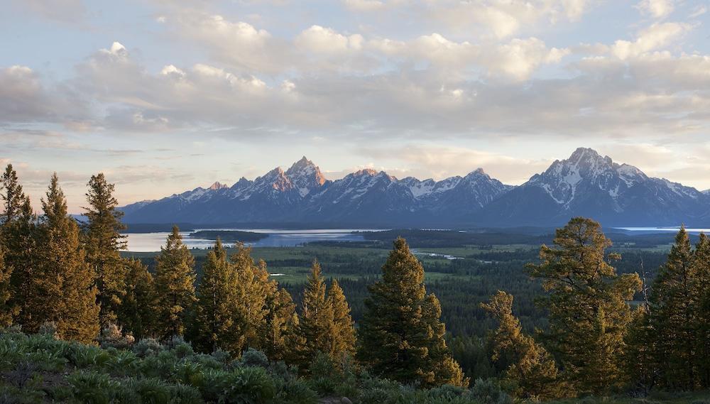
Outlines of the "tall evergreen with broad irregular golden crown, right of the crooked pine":
<svg viewBox="0 0 710 404">
<path fill-rule="evenodd" d="M 564 376 L 578 391 L 601 393 L 625 381 L 621 361 L 631 322 L 628 300 L 640 290 L 638 274 L 617 276 L 605 255 L 611 241 L 599 223 L 575 217 L 557 229 L 557 248 L 542 246 L 540 265 L 530 265 L 549 296 L 545 335 Z"/>
</svg>

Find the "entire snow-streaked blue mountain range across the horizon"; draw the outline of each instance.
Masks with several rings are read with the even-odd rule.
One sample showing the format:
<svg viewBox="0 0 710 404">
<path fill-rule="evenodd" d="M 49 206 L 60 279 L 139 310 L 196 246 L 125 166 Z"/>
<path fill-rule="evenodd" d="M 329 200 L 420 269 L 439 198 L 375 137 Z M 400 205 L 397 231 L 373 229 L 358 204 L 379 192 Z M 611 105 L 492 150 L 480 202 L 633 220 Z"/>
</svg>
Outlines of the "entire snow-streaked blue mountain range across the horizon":
<svg viewBox="0 0 710 404">
<path fill-rule="evenodd" d="M 652 178 L 590 148 L 556 160 L 523 185 L 481 168 L 444 180 L 359 170 L 326 180 L 307 158 L 255 180 L 241 178 L 122 207 L 126 223 L 342 226 L 558 226 L 585 216 L 605 226 L 710 223 L 710 193 Z"/>
</svg>

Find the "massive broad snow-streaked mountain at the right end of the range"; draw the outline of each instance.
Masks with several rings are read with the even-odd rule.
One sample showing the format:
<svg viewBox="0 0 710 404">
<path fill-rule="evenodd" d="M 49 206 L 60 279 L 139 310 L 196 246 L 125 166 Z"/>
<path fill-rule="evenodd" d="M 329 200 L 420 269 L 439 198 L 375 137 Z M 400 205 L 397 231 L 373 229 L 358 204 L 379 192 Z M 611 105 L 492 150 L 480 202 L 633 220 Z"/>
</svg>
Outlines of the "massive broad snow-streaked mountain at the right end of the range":
<svg viewBox="0 0 710 404">
<path fill-rule="evenodd" d="M 695 188 L 578 148 L 473 217 L 489 226 L 559 225 L 574 216 L 606 226 L 677 226 L 710 222 L 709 212 L 710 197 Z"/>
</svg>

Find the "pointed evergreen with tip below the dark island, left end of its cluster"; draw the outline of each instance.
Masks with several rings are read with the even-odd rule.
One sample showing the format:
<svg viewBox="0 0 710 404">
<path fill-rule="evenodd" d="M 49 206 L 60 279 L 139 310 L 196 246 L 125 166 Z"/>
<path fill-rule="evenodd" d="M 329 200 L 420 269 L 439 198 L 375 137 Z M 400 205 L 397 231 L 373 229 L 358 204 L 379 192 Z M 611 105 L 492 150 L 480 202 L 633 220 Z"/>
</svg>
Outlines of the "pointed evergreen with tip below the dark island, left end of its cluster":
<svg viewBox="0 0 710 404">
<path fill-rule="evenodd" d="M 241 335 L 235 334 L 239 319 L 237 300 L 239 289 L 236 272 L 227 262 L 226 250 L 217 239 L 207 253 L 202 267 L 202 280 L 197 288 L 197 305 L 192 334 L 193 344 L 202 351 L 218 348 L 225 351 L 241 349 Z"/>
</svg>

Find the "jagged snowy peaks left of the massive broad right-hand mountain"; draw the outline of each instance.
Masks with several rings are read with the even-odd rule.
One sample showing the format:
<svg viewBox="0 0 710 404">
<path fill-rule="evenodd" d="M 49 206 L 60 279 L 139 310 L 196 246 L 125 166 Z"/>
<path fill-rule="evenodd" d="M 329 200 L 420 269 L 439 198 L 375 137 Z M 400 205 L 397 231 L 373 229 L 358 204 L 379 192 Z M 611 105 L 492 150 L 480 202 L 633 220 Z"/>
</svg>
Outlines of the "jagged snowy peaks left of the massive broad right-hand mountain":
<svg viewBox="0 0 710 404">
<path fill-rule="evenodd" d="M 121 208 L 126 223 L 339 223 L 351 225 L 452 224 L 510 190 L 480 168 L 441 181 L 360 170 L 325 180 L 307 158 L 256 180 L 211 187 Z"/>
</svg>

